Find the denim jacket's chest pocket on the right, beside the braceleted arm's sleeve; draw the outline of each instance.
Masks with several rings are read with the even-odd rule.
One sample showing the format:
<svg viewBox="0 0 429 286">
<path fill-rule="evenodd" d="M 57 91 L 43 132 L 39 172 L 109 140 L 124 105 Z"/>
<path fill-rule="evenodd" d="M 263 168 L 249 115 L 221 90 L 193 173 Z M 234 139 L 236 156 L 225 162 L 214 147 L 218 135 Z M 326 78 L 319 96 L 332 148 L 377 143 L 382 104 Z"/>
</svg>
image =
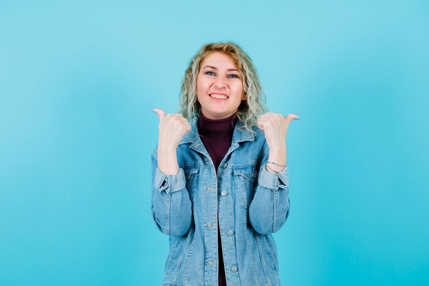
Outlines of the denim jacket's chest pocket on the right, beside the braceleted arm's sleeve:
<svg viewBox="0 0 429 286">
<path fill-rule="evenodd" d="M 256 171 L 254 165 L 234 169 L 234 182 L 240 204 L 247 208 L 252 201 Z"/>
</svg>

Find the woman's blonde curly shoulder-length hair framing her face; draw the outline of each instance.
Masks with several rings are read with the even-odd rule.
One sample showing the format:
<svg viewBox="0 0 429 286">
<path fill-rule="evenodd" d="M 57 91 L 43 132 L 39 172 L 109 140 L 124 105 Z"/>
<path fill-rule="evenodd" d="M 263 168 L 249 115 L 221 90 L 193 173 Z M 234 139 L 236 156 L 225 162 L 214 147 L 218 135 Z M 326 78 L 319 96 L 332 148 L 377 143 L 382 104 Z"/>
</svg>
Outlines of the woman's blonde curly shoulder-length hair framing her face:
<svg viewBox="0 0 429 286">
<path fill-rule="evenodd" d="M 252 60 L 240 46 L 232 42 L 206 44 L 193 56 L 182 80 L 179 112 L 190 123 L 193 123 L 199 117 L 201 104 L 197 100 L 195 90 L 197 77 L 199 69 L 201 69 L 201 63 L 210 53 L 215 51 L 230 56 L 243 78 L 243 89 L 247 94 L 247 99 L 243 100 L 238 106 L 237 116 L 238 120 L 243 121 L 245 129 L 254 132 L 252 126 L 256 126 L 260 115 L 267 112 L 265 95 L 262 92 L 258 73 L 256 73 Z"/>
</svg>

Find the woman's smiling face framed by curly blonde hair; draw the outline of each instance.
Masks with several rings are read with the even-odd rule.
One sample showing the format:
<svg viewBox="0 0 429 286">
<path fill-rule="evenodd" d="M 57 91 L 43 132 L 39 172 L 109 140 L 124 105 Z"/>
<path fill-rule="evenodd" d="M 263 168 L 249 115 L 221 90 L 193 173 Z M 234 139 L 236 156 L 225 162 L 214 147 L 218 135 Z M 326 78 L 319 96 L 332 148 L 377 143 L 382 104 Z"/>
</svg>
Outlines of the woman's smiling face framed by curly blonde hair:
<svg viewBox="0 0 429 286">
<path fill-rule="evenodd" d="M 197 99 L 208 119 L 234 115 L 241 101 L 247 99 L 243 79 L 230 56 L 212 52 L 203 60 L 197 77 Z"/>
</svg>

